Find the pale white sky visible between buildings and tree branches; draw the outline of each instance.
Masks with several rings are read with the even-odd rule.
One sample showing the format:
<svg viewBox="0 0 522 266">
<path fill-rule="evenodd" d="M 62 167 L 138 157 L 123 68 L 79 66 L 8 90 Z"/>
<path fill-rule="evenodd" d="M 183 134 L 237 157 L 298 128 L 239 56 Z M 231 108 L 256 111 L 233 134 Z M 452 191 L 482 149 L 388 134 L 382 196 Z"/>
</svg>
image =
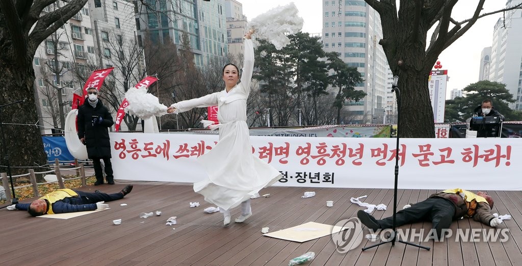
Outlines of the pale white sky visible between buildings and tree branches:
<svg viewBox="0 0 522 266">
<path fill-rule="evenodd" d="M 304 32 L 321 33 L 323 27 L 323 0 L 238 0 L 243 4 L 243 13 L 248 20 L 265 13 L 278 5 L 294 2 L 299 14 L 304 19 Z M 454 9 L 452 17 L 461 21 L 473 15 L 478 0 L 461 0 Z M 506 1 L 489 0 L 484 4 L 482 13 L 489 13 L 505 7 Z M 446 98 L 451 89 L 464 89 L 479 78 L 480 53 L 484 47 L 491 46 L 493 27 L 502 13 L 479 19 L 470 30 L 449 46 L 439 56 L 443 69 L 448 70 L 450 77 L 447 83 Z M 430 35 L 429 35 L 430 37 Z"/>
</svg>

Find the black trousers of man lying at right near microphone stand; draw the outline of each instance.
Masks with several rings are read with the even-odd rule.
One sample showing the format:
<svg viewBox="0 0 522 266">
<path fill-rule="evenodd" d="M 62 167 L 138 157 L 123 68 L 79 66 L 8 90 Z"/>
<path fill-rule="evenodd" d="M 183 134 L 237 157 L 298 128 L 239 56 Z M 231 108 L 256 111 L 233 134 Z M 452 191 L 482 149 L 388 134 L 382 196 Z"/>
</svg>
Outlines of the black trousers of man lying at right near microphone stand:
<svg viewBox="0 0 522 266">
<path fill-rule="evenodd" d="M 442 236 L 442 229 L 448 229 L 453 222 L 455 215 L 455 205 L 443 198 L 429 198 L 424 201 L 412 204 L 410 208 L 397 212 L 395 225 L 417 222 L 432 222 L 433 229 L 438 237 Z M 377 220 L 381 228 L 393 227 L 393 216 L 383 220 Z"/>
</svg>

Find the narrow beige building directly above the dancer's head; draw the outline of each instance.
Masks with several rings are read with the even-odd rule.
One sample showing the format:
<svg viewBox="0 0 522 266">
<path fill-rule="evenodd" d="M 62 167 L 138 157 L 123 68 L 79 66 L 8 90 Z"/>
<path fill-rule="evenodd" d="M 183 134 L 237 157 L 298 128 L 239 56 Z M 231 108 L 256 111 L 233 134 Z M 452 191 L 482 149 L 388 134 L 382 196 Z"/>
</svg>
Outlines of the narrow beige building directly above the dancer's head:
<svg viewBox="0 0 522 266">
<path fill-rule="evenodd" d="M 243 35 L 247 31 L 243 5 L 235 0 L 225 0 L 225 14 L 227 16 L 228 52 L 233 55 L 243 54 Z"/>
</svg>

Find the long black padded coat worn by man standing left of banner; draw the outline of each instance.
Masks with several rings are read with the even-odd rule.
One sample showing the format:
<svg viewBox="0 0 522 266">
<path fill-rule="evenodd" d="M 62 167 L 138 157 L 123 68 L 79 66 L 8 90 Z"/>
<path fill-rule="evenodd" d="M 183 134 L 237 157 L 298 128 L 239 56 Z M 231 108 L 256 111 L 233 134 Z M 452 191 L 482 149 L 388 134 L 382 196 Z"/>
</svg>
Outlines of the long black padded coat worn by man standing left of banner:
<svg viewBox="0 0 522 266">
<path fill-rule="evenodd" d="M 101 124 L 93 124 L 92 119 L 100 116 L 103 118 Z M 85 137 L 87 155 L 93 158 L 111 158 L 111 141 L 109 139 L 109 127 L 114 124 L 112 116 L 107 107 L 103 106 L 100 99 L 96 107 L 85 103 L 78 108 L 78 137 Z"/>
</svg>

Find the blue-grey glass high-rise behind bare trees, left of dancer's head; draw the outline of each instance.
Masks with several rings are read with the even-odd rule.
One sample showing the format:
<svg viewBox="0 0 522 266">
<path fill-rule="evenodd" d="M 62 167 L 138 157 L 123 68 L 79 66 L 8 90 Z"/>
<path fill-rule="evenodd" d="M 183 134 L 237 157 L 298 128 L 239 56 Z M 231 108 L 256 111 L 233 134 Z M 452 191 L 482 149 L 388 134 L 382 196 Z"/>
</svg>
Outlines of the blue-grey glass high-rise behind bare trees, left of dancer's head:
<svg viewBox="0 0 522 266">
<path fill-rule="evenodd" d="M 186 36 L 197 66 L 210 65 L 228 53 L 224 0 L 159 0 L 145 7 L 135 2 L 138 42 L 170 40 L 179 49 Z"/>
</svg>

